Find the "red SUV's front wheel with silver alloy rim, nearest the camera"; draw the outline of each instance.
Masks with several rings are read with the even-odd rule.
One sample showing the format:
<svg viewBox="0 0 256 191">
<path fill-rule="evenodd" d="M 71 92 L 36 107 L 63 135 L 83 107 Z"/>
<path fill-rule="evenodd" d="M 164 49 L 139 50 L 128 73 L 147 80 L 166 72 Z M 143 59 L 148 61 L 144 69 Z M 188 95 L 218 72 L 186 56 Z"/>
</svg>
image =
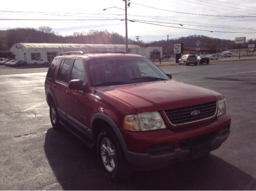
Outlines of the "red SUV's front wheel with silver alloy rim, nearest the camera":
<svg viewBox="0 0 256 191">
<path fill-rule="evenodd" d="M 103 173 L 112 181 L 128 179 L 132 168 L 126 161 L 119 140 L 110 128 L 104 127 L 97 140 L 97 153 Z"/>
</svg>

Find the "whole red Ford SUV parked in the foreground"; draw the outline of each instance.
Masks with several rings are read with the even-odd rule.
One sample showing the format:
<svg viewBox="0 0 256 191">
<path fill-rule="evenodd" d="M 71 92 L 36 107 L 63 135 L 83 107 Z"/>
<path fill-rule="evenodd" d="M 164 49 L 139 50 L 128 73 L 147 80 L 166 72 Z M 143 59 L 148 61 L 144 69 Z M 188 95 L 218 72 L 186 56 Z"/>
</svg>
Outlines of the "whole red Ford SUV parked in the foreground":
<svg viewBox="0 0 256 191">
<path fill-rule="evenodd" d="M 140 55 L 63 53 L 45 80 L 52 126 L 96 148 L 113 181 L 207 155 L 230 134 L 224 96 L 171 78 Z"/>
</svg>

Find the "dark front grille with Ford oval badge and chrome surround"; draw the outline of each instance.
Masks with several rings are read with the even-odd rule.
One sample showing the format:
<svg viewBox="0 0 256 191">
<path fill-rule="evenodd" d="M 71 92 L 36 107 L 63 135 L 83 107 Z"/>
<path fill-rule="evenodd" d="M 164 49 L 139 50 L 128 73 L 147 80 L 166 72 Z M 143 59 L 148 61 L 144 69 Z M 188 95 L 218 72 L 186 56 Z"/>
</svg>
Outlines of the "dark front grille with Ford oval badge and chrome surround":
<svg viewBox="0 0 256 191">
<path fill-rule="evenodd" d="M 217 102 L 209 102 L 194 106 L 164 110 L 166 116 L 173 125 L 191 123 L 213 117 L 216 114 Z M 191 113 L 199 111 L 200 114 L 193 116 Z"/>
</svg>

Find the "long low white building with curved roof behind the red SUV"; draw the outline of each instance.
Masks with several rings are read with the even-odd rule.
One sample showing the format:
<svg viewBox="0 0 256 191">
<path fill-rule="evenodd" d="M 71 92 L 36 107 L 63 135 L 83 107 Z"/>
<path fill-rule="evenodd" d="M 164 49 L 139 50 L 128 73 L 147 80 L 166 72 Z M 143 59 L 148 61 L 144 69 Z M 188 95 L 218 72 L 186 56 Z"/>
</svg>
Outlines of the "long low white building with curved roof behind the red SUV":
<svg viewBox="0 0 256 191">
<path fill-rule="evenodd" d="M 47 44 L 47 43 L 16 43 L 10 49 L 13 59 L 24 60 L 28 64 L 32 60 L 45 59 L 49 63 L 54 57 L 69 51 L 123 51 L 126 45 L 113 44 Z M 151 59 L 162 57 L 162 47 L 142 48 L 138 45 L 128 45 L 129 54 L 138 54 Z"/>
</svg>

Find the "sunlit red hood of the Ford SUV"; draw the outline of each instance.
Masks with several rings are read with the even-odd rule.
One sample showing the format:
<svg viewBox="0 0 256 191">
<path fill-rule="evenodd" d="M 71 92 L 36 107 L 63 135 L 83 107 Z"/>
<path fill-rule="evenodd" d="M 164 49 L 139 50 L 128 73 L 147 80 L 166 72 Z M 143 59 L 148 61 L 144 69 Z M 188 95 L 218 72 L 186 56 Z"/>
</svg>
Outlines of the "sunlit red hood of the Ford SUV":
<svg viewBox="0 0 256 191">
<path fill-rule="evenodd" d="M 97 89 L 127 102 L 138 113 L 181 108 L 223 98 L 215 91 L 173 80 Z"/>
</svg>

